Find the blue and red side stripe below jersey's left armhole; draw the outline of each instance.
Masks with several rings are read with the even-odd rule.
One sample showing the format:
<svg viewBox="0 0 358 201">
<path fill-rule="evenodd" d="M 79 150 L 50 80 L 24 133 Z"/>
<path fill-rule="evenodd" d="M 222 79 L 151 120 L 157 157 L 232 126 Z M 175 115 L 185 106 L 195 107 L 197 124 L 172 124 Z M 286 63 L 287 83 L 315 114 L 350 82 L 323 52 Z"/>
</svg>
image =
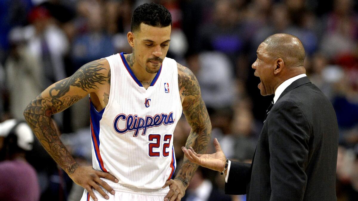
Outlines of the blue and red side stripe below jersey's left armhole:
<svg viewBox="0 0 358 201">
<path fill-rule="evenodd" d="M 89 99 L 89 104 L 93 148 L 95 149 L 96 158 L 101 170 L 103 172 L 108 172 L 103 164 L 103 160 L 100 153 L 100 121 L 102 119 L 102 114 L 105 111 L 105 108 L 103 108 L 101 112 L 97 112 L 95 106 L 93 106 L 91 102 L 91 98 Z"/>
</svg>

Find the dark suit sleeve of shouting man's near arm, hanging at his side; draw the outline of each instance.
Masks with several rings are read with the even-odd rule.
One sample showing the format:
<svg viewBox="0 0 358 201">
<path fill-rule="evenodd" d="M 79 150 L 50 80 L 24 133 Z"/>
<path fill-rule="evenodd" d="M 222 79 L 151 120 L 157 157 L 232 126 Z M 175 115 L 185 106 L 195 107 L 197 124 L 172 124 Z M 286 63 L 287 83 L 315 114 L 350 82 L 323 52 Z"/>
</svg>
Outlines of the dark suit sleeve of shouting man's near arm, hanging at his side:
<svg viewBox="0 0 358 201">
<path fill-rule="evenodd" d="M 303 200 L 307 183 L 309 123 L 296 103 L 285 101 L 271 110 L 268 123 L 270 200 Z"/>
</svg>

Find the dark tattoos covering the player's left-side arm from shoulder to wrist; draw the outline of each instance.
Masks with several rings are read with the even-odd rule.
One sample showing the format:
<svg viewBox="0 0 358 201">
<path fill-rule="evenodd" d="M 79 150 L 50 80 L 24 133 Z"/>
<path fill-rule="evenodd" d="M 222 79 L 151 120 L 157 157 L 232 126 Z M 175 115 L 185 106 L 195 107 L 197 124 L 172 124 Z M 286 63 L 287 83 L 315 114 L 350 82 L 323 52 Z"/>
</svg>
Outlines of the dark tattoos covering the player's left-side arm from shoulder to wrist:
<svg viewBox="0 0 358 201">
<path fill-rule="evenodd" d="M 68 174 L 72 174 L 78 168 L 78 164 L 61 142 L 50 116 L 63 111 L 82 99 L 82 96 L 79 95 L 66 95 L 71 86 L 79 87 L 88 92 L 89 89 L 97 88 L 98 84 L 104 84 L 107 77 L 98 73 L 102 69 L 103 64 L 100 60 L 83 65 L 71 77 L 55 83 L 48 92 L 45 90 L 38 95 L 24 111 L 26 122 L 32 128 L 35 136 L 49 155 Z M 43 95 L 44 93 L 49 94 Z"/>
</svg>

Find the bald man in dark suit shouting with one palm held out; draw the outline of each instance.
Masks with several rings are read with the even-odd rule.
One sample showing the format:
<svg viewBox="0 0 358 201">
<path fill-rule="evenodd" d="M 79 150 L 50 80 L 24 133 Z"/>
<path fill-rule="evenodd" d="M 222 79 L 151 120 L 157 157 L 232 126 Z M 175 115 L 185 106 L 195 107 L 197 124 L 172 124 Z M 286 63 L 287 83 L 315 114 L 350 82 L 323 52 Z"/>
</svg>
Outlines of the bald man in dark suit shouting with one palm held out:
<svg viewBox="0 0 358 201">
<path fill-rule="evenodd" d="M 289 34 L 263 41 L 252 64 L 261 95 L 275 94 L 266 111 L 252 164 L 228 161 L 217 139 L 216 153 L 183 147 L 190 161 L 226 173 L 227 194 L 247 200 L 337 200 L 338 126 L 334 109 L 306 77 L 305 50 Z"/>
</svg>

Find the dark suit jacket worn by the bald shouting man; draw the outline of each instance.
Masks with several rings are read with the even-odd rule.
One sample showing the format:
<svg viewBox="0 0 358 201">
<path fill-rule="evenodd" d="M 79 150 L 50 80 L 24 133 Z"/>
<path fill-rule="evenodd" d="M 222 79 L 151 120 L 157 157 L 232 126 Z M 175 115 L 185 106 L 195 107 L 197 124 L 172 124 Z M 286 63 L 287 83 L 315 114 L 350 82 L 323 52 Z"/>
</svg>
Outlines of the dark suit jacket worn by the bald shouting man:
<svg viewBox="0 0 358 201">
<path fill-rule="evenodd" d="M 297 79 L 272 107 L 252 166 L 231 162 L 227 194 L 247 200 L 337 200 L 338 126 L 330 101 L 307 77 Z"/>
</svg>

